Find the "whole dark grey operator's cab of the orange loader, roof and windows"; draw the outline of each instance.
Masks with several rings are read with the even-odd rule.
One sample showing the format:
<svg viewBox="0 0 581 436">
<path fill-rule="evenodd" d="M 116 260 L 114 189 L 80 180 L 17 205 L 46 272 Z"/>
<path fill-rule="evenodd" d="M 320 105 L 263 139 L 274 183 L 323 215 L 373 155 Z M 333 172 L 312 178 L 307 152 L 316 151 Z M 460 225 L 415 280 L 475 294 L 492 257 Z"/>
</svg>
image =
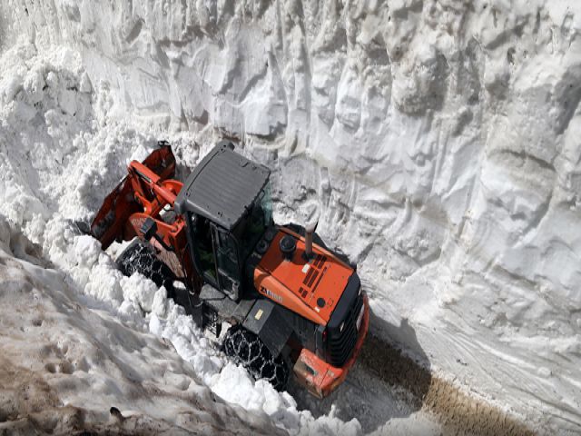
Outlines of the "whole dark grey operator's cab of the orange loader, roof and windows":
<svg viewBox="0 0 581 436">
<path fill-rule="evenodd" d="M 204 282 L 239 301 L 252 283 L 245 263 L 273 226 L 271 170 L 219 144 L 190 174 L 174 203 L 186 216 L 192 263 Z"/>
</svg>

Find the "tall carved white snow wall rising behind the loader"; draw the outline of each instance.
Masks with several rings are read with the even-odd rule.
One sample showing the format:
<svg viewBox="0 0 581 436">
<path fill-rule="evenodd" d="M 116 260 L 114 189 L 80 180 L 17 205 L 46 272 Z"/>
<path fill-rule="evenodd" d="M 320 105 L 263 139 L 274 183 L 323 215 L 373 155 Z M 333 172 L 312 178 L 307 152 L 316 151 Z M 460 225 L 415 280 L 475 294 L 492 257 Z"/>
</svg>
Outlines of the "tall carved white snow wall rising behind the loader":
<svg viewBox="0 0 581 436">
<path fill-rule="evenodd" d="M 375 332 L 529 422 L 581 429 L 580 4 L 0 7 L 4 47 L 73 47 L 120 117 L 237 138 L 274 168 L 279 221 L 320 211 Z"/>
</svg>

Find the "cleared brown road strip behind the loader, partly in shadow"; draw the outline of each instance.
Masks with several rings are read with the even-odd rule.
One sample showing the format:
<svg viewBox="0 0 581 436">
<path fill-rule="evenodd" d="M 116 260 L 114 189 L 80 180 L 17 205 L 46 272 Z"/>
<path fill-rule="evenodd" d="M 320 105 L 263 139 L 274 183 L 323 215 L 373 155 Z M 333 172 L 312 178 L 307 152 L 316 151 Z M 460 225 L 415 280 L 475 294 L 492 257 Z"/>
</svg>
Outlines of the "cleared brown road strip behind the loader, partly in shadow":
<svg viewBox="0 0 581 436">
<path fill-rule="evenodd" d="M 345 383 L 318 401 L 300 387 L 290 391 L 300 408 L 315 416 L 357 418 L 366 433 L 418 431 L 424 435 L 532 436 L 535 433 L 503 411 L 468 396 L 373 334 Z M 410 421 L 408 424 L 407 421 Z M 409 427 L 408 427 L 409 426 Z"/>
</svg>

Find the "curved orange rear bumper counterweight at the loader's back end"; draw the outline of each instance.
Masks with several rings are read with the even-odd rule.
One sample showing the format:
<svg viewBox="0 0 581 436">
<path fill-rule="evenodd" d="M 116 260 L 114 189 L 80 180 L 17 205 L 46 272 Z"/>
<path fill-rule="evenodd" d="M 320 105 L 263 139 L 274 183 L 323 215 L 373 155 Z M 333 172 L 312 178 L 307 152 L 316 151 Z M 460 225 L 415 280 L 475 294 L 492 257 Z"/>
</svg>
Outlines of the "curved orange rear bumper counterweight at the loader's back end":
<svg viewBox="0 0 581 436">
<path fill-rule="evenodd" d="M 293 371 L 297 376 L 297 381 L 307 388 L 313 395 L 324 398 L 334 391 L 347 377 L 351 367 L 357 360 L 361 347 L 369 329 L 369 301 L 366 294 L 363 294 L 363 320 L 359 327 L 359 337 L 355 344 L 355 349 L 349 361 L 341 368 L 336 368 L 328 362 L 324 362 L 313 352 L 303 348 L 299 359 L 294 364 Z"/>
</svg>

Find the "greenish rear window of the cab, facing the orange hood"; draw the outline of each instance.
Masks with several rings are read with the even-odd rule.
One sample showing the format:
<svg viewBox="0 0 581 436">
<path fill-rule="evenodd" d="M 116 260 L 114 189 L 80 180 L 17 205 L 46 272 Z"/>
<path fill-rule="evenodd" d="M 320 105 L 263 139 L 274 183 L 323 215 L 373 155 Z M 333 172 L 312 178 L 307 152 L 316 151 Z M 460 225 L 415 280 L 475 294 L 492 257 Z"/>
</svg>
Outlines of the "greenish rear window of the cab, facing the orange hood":
<svg viewBox="0 0 581 436">
<path fill-rule="evenodd" d="M 250 212 L 242 218 L 234 231 L 240 241 L 242 259 L 246 259 L 254 250 L 254 246 L 270 225 L 272 225 L 271 183 L 267 183 L 252 204 Z"/>
</svg>

